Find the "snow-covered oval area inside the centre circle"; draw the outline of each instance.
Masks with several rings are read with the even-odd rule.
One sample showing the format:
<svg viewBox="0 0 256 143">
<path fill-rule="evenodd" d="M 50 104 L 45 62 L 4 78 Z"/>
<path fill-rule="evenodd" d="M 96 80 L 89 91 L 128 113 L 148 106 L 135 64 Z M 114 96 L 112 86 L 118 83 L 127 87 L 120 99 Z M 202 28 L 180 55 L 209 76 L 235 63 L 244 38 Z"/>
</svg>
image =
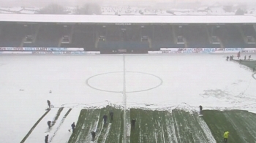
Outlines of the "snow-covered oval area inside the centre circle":
<svg viewBox="0 0 256 143">
<path fill-rule="evenodd" d="M 124 81 L 124 72 L 114 71 L 89 77 L 86 85 L 95 90 L 111 93 L 123 93 L 124 88 L 126 93 L 137 93 L 159 87 L 162 85 L 162 79 L 145 72 L 125 71 Z"/>
</svg>

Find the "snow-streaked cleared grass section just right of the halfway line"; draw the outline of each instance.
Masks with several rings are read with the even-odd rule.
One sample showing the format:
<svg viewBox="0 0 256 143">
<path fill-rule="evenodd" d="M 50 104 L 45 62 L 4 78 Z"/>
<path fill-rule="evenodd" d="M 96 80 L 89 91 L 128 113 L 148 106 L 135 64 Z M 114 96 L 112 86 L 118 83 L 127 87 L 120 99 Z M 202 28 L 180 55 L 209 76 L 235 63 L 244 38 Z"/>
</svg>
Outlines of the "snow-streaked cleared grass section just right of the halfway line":
<svg viewBox="0 0 256 143">
<path fill-rule="evenodd" d="M 196 112 L 130 109 L 130 117 L 136 119 L 131 142 L 213 142 Z"/>
</svg>

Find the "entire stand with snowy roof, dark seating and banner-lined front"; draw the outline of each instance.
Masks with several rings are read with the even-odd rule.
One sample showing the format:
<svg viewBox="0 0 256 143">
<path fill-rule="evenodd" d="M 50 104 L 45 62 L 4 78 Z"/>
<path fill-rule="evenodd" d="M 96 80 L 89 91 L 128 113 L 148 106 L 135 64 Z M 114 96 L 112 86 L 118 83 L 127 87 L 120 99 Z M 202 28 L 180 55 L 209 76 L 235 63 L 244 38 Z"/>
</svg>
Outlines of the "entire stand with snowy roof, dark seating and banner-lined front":
<svg viewBox="0 0 256 143">
<path fill-rule="evenodd" d="M 1 53 L 211 53 L 244 48 L 256 52 L 252 15 L 2 14 L 0 34 Z"/>
</svg>

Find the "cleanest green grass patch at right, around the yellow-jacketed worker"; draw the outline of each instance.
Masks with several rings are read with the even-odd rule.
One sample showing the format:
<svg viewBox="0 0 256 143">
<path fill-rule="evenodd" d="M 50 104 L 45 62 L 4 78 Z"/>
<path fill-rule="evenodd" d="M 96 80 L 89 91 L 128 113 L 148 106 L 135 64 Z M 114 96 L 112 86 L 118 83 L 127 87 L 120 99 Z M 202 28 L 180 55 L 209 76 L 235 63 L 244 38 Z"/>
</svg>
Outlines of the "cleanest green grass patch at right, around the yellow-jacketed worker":
<svg viewBox="0 0 256 143">
<path fill-rule="evenodd" d="M 203 119 L 217 143 L 223 142 L 224 131 L 230 131 L 228 142 L 256 141 L 256 114 L 241 111 L 203 111 Z"/>
</svg>

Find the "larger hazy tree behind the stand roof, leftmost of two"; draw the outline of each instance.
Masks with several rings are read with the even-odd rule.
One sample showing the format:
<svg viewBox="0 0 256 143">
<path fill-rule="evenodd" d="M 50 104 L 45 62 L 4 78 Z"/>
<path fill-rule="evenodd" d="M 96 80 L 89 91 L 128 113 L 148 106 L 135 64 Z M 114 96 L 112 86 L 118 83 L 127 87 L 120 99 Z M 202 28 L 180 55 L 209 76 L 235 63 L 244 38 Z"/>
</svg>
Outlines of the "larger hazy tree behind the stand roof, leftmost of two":
<svg viewBox="0 0 256 143">
<path fill-rule="evenodd" d="M 66 15 L 67 9 L 59 4 L 49 4 L 37 12 L 38 14 L 54 14 L 54 15 Z"/>
</svg>

